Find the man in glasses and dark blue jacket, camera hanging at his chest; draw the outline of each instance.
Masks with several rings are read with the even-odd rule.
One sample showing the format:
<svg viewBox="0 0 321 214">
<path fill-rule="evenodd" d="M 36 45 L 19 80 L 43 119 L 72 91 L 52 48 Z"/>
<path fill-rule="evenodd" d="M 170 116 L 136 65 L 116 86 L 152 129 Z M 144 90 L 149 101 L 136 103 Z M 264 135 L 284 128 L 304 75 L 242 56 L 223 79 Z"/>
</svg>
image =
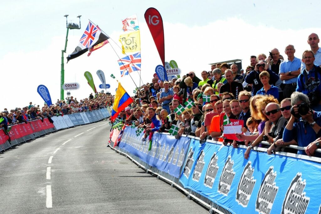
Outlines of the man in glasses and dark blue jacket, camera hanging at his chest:
<svg viewBox="0 0 321 214">
<path fill-rule="evenodd" d="M 296 91 L 308 95 L 311 108 L 321 111 L 321 68 L 313 64 L 315 56 L 313 51 L 305 50 L 302 54 L 302 62 L 305 68 L 298 76 Z"/>
</svg>

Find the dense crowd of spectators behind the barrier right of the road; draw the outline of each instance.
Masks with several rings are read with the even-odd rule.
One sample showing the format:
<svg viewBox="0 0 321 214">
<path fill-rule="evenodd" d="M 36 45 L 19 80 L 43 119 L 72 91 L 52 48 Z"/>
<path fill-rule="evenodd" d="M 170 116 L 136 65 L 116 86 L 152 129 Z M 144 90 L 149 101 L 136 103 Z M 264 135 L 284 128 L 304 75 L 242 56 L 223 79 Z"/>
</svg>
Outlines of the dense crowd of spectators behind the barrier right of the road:
<svg viewBox="0 0 321 214">
<path fill-rule="evenodd" d="M 236 64 L 213 64 L 210 71 L 188 72 L 170 81 L 152 79 L 137 90 L 134 102 L 119 114 L 127 124 L 144 128 L 143 141 L 150 133 L 169 132 L 171 125 L 182 134 L 247 146 L 245 158 L 255 146 L 267 153 L 294 152 L 321 157 L 321 47 L 319 38 L 308 36 L 311 50 L 295 57 L 294 45 L 284 45 L 286 57 L 277 48 L 269 55 L 250 56 L 246 69 Z M 197 77 L 200 76 L 201 78 Z M 205 98 L 204 98 L 205 97 Z M 206 99 L 209 97 L 210 99 Z M 193 107 L 185 107 L 192 100 Z M 174 109 L 185 108 L 181 114 Z M 224 136 L 226 119 L 243 121 L 235 133 L 238 140 Z M 224 119 L 225 118 L 225 119 Z M 226 126 L 225 126 L 226 127 Z M 268 142 L 269 145 L 263 144 Z M 294 150 L 288 145 L 306 147 Z"/>
</svg>

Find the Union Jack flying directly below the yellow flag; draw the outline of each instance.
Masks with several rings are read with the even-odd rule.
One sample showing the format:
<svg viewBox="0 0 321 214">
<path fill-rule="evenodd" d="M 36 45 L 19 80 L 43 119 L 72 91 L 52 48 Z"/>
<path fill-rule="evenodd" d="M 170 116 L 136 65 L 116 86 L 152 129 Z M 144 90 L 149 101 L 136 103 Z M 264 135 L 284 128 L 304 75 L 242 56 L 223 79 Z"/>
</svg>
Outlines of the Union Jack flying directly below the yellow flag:
<svg viewBox="0 0 321 214">
<path fill-rule="evenodd" d="M 120 75 L 122 77 L 125 75 L 128 75 L 128 73 L 132 73 L 133 71 L 140 71 L 141 70 L 140 52 L 121 58 L 120 60 L 118 60 L 118 64 L 120 66 Z"/>
</svg>

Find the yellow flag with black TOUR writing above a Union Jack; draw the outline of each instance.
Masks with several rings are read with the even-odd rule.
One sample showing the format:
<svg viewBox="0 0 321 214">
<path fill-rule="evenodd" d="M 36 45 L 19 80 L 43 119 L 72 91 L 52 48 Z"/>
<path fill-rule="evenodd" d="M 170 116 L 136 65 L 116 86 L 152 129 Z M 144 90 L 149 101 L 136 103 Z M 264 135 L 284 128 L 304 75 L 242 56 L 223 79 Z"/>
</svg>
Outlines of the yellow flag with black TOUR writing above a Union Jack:
<svg viewBox="0 0 321 214">
<path fill-rule="evenodd" d="M 123 54 L 140 51 L 139 30 L 120 35 L 119 41 L 122 44 Z"/>
</svg>

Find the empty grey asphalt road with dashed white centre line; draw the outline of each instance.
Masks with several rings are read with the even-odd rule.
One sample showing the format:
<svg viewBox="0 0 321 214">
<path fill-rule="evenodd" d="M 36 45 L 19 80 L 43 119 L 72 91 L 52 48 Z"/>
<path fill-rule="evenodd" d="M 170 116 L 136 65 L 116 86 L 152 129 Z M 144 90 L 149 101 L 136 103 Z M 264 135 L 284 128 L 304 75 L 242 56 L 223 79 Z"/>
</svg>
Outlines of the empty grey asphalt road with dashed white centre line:
<svg viewBox="0 0 321 214">
<path fill-rule="evenodd" d="M 107 146 L 107 121 L 0 153 L 1 213 L 207 213 Z"/>
</svg>

